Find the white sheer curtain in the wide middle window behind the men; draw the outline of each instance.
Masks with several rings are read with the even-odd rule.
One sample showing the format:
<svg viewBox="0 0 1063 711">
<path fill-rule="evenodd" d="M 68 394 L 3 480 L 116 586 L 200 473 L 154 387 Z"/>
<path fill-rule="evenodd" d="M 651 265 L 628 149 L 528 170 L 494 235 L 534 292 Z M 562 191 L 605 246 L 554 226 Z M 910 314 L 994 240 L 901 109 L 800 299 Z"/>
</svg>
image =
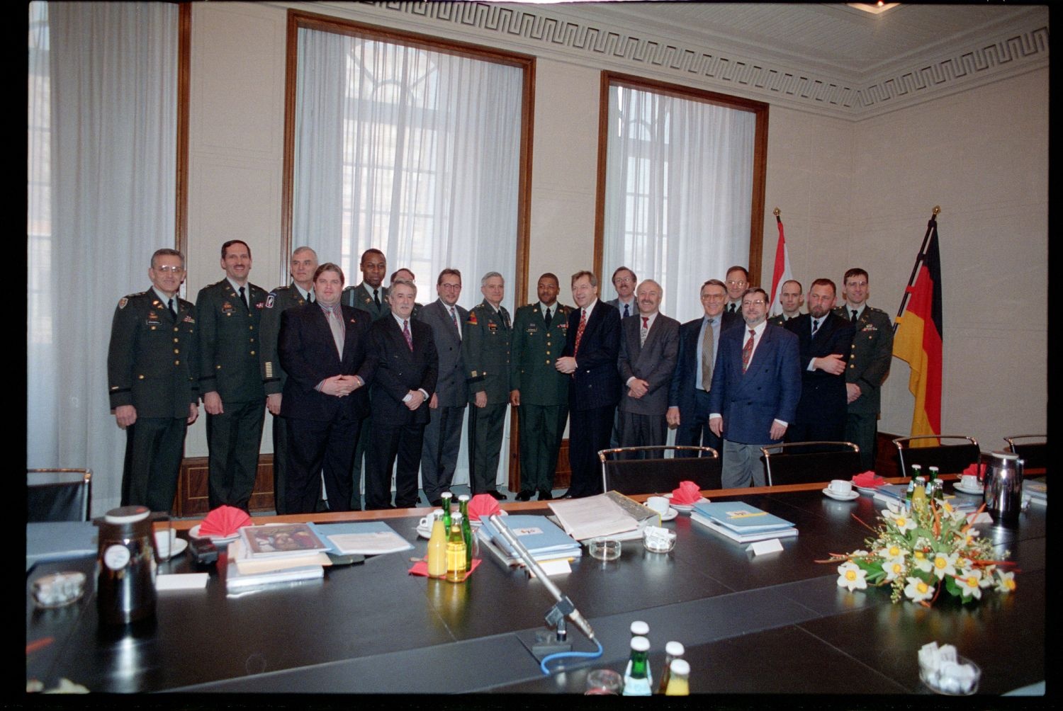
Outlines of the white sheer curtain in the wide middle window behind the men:
<svg viewBox="0 0 1063 711">
<path fill-rule="evenodd" d="M 421 303 L 443 268 L 461 271 L 466 307 L 497 271 L 512 314 L 522 70 L 307 29 L 298 54 L 293 243 L 339 263 L 351 285 L 375 247 L 389 272 L 412 269 Z"/>
</svg>

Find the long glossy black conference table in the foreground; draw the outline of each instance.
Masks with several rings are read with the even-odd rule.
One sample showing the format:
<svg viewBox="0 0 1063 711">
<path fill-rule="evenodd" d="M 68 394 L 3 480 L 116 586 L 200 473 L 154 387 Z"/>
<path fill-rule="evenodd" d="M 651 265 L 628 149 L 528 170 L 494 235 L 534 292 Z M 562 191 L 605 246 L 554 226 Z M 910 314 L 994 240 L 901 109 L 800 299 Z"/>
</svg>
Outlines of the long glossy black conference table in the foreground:
<svg viewBox="0 0 1063 711">
<path fill-rule="evenodd" d="M 428 509 L 403 509 L 309 519 L 385 520 L 414 551 L 326 569 L 323 580 L 232 594 L 221 559 L 205 590 L 161 592 L 154 623 L 124 633 L 98 625 L 95 558 L 38 564 L 27 576 L 27 678 L 52 688 L 65 677 L 94 692 L 583 693 L 589 671 L 623 671 L 628 627 L 643 620 L 654 673 L 664 643 L 682 642 L 692 693 L 929 694 L 916 653 L 930 641 L 954 644 L 981 666 L 980 694 L 1045 680 L 1045 507 L 1031 506 L 1015 525 L 978 526 L 1018 563 L 1014 593 L 927 609 L 891 604 L 888 589 L 849 593 L 837 586 L 837 564 L 815 562 L 865 547 L 871 531 L 853 514 L 874 524 L 883 508 L 870 496 L 832 501 L 822 486 L 705 492 L 793 521 L 799 536 L 782 539 L 779 553 L 754 557 L 682 513 L 663 524 L 678 535 L 671 554 L 630 541 L 619 560 L 601 562 L 585 549 L 570 574 L 552 579 L 604 655 L 551 676 L 528 651 L 554 603 L 541 582 L 489 556 L 460 585 L 408 575 L 410 558 L 426 552 L 416 525 Z M 537 502 L 504 508 L 549 513 Z M 66 608 L 35 610 L 32 579 L 61 570 L 84 571 L 89 592 Z M 188 554 L 161 566 L 191 570 Z M 577 650 L 593 648 L 572 625 L 569 639 Z"/>
</svg>

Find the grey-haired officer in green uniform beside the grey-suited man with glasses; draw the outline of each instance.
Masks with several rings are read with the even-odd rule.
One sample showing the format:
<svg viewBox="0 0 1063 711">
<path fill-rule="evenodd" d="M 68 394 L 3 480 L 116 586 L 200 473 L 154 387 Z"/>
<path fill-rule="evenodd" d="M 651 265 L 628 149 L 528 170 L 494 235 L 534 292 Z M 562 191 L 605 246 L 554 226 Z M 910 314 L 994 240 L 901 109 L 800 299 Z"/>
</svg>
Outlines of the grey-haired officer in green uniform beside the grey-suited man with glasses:
<svg viewBox="0 0 1063 711">
<path fill-rule="evenodd" d="M 505 281 L 488 272 L 479 282 L 484 301 L 469 311 L 461 338 L 469 380 L 469 470 L 473 494 L 506 495 L 495 488 L 502 427 L 509 405 L 509 314 L 502 306 Z"/>
</svg>

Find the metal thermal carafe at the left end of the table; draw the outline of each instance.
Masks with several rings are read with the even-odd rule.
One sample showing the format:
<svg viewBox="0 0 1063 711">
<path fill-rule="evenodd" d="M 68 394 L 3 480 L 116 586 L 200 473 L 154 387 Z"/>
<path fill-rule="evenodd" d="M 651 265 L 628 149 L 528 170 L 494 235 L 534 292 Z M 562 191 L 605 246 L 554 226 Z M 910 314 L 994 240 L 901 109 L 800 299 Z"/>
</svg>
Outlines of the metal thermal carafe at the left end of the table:
<svg viewBox="0 0 1063 711">
<path fill-rule="evenodd" d="M 124 625 L 155 614 L 155 551 L 151 522 L 169 519 L 144 506 L 112 509 L 100 527 L 96 602 L 102 624 Z"/>
</svg>

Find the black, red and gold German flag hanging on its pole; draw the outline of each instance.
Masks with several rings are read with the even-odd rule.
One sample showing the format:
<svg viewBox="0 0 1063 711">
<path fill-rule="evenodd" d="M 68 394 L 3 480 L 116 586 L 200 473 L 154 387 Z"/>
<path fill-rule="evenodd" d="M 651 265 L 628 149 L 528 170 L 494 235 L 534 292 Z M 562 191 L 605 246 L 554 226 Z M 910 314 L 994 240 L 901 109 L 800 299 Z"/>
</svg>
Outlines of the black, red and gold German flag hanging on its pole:
<svg viewBox="0 0 1063 711">
<path fill-rule="evenodd" d="M 897 316 L 893 337 L 893 355 L 906 361 L 912 371 L 908 389 L 915 395 L 913 437 L 941 434 L 941 253 L 938 221 L 933 217 L 927 224 L 927 236 L 915 260 L 906 294 L 908 303 Z"/>
</svg>

